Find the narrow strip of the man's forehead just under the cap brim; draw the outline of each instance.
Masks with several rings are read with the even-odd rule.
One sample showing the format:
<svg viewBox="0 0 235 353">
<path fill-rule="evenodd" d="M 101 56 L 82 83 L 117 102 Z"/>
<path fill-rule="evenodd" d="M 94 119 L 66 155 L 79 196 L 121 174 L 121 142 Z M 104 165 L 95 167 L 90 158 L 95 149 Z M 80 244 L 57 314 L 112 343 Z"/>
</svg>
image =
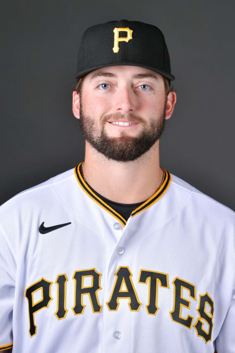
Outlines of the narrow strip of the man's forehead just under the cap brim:
<svg viewBox="0 0 235 353">
<path fill-rule="evenodd" d="M 153 80 L 161 80 L 162 75 L 157 72 L 143 68 L 141 66 L 132 66 L 132 65 L 117 65 L 117 66 L 107 66 L 92 71 L 86 75 L 86 80 L 92 82 L 95 79 L 98 79 L 102 76 L 108 77 L 128 77 L 128 78 L 152 78 Z"/>
</svg>

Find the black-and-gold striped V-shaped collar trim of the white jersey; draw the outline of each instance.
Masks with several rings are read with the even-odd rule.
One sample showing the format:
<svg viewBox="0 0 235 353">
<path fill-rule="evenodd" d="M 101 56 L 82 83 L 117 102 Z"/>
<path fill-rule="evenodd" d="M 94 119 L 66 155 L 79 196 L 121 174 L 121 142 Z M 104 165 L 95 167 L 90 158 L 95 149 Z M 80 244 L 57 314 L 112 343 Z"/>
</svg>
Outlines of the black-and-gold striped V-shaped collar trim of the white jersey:
<svg viewBox="0 0 235 353">
<path fill-rule="evenodd" d="M 82 190 L 94 201 L 96 202 L 100 207 L 102 207 L 103 209 L 105 209 L 105 211 L 109 212 L 113 217 L 115 217 L 118 222 L 120 222 L 122 224 L 123 227 L 125 227 L 127 220 L 125 220 L 117 211 L 115 211 L 115 209 L 113 209 L 112 207 L 110 207 L 106 202 L 104 202 L 103 200 L 101 200 L 98 195 L 96 193 L 94 193 L 90 187 L 88 186 L 88 184 L 86 183 L 86 181 L 84 180 L 84 178 L 82 177 L 81 173 L 80 173 L 80 166 L 83 162 L 79 163 L 75 168 L 74 168 L 74 174 L 76 176 L 76 179 L 79 183 L 79 185 L 81 186 Z M 168 189 L 170 182 L 171 182 L 171 176 L 170 173 L 167 172 L 167 170 L 165 170 L 165 180 L 163 185 L 161 186 L 160 189 L 157 190 L 157 192 L 151 196 L 148 200 L 146 200 L 145 202 L 143 202 L 139 207 L 137 207 L 136 209 L 134 209 L 131 213 L 131 217 L 135 217 L 137 214 L 139 214 L 140 212 L 142 212 L 143 210 L 145 210 L 146 208 L 150 207 L 152 204 L 154 204 L 155 202 L 157 202 L 166 192 L 166 190 Z"/>
</svg>

